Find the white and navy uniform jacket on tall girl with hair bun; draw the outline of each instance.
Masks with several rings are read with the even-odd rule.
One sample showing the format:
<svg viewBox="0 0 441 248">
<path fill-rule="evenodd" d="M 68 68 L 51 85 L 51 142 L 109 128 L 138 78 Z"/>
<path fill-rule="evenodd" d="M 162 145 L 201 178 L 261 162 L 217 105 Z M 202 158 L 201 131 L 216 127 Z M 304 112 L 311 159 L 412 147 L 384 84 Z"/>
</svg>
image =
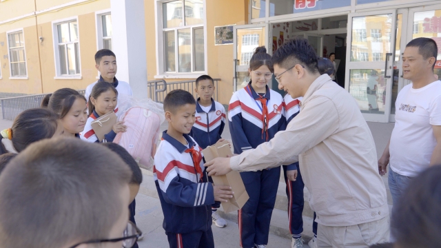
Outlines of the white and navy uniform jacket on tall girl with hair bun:
<svg viewBox="0 0 441 248">
<path fill-rule="evenodd" d="M 234 92 L 228 107 L 229 130 L 232 134 L 234 153 L 241 154 L 247 149 L 256 148 L 261 143 L 271 140 L 276 132 L 284 130 L 286 123 L 283 116 L 283 98 L 267 86 L 264 96 L 267 99 L 268 140 L 265 132 L 262 134 L 262 104 L 256 100 L 258 94 L 251 87 L 251 83 L 237 92 Z"/>
</svg>

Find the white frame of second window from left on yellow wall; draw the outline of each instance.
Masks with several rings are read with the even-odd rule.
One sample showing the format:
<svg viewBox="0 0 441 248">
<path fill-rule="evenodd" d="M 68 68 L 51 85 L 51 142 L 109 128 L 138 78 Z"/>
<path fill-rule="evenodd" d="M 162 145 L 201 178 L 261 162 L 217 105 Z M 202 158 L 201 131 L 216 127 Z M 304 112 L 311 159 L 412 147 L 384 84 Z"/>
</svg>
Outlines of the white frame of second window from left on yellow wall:
<svg viewBox="0 0 441 248">
<path fill-rule="evenodd" d="M 80 73 L 79 74 L 70 74 L 70 75 L 62 75 L 61 74 L 61 68 L 60 68 L 60 54 L 59 54 L 59 39 L 58 39 L 58 28 L 57 25 L 63 24 L 63 23 L 69 23 L 72 21 L 76 21 L 77 28 L 78 28 L 78 61 L 79 61 L 79 68 Z M 55 76 L 54 79 L 83 79 L 82 73 L 83 70 L 81 70 L 81 37 L 80 37 L 80 23 L 78 16 L 74 17 L 68 17 L 65 19 L 59 19 L 52 21 L 52 41 L 53 41 L 53 47 L 54 47 L 54 62 L 55 62 Z"/>
</svg>

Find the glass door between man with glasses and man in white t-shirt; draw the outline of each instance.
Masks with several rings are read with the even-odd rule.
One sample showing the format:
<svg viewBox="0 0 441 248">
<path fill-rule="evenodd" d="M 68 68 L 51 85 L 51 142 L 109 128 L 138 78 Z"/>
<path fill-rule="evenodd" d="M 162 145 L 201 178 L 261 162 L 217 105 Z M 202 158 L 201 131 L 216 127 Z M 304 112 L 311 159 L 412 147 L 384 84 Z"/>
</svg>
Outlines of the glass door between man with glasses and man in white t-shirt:
<svg viewBox="0 0 441 248">
<path fill-rule="evenodd" d="M 389 122 L 396 10 L 349 14 L 345 89 L 366 121 Z"/>
</svg>

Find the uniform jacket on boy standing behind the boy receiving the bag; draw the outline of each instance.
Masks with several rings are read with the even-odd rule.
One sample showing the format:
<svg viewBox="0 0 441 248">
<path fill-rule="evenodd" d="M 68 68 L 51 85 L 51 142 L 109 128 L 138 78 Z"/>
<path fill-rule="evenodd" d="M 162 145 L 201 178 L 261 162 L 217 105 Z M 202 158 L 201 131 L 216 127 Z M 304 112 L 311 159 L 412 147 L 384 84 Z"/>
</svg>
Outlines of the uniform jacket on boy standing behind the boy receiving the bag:
<svg viewBox="0 0 441 248">
<path fill-rule="evenodd" d="M 202 110 L 198 101 L 196 101 L 196 122 L 189 135 L 202 149 L 205 149 L 222 138 L 220 135 L 225 127 L 225 107 L 212 99 L 212 108 L 207 113 Z"/>
</svg>

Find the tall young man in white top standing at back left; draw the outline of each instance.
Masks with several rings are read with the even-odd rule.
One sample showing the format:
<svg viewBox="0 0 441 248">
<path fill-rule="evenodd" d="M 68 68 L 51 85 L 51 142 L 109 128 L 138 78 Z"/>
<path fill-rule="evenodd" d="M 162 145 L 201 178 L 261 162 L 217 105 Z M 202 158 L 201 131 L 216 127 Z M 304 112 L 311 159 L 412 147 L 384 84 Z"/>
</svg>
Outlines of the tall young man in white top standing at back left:
<svg viewBox="0 0 441 248">
<path fill-rule="evenodd" d="M 100 72 L 99 80 L 91 83 L 85 88 L 85 99 L 89 102 L 89 96 L 92 93 L 94 85 L 98 82 L 104 81 L 112 83 L 113 87 L 118 91 L 118 98 L 123 95 L 132 96 L 132 88 L 129 83 L 118 81 L 115 75 L 118 69 L 116 65 L 116 56 L 114 52 L 108 49 L 101 49 L 95 54 L 95 68 Z M 115 113 L 118 114 L 118 104 L 116 104 Z"/>
</svg>

